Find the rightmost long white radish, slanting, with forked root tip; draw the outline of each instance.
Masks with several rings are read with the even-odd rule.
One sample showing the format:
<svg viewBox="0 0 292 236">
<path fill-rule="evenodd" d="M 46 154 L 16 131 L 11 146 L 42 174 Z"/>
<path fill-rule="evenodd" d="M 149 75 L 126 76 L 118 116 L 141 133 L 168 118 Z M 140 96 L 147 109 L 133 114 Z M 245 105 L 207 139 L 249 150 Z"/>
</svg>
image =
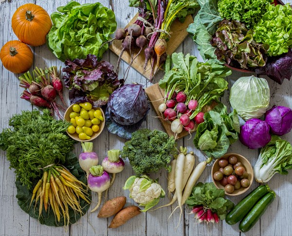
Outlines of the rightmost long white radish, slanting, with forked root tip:
<svg viewBox="0 0 292 236">
<path fill-rule="evenodd" d="M 189 177 L 188 181 L 186 182 L 186 185 L 184 187 L 183 190 L 183 197 L 181 202 L 179 202 L 179 205 L 173 210 L 173 212 L 170 214 L 169 217 L 171 217 L 171 215 L 175 212 L 175 210 L 177 208 L 182 209 L 182 205 L 185 203 L 185 201 L 187 200 L 187 198 L 191 195 L 192 193 L 192 189 L 195 186 L 196 182 L 199 180 L 201 174 L 203 173 L 203 171 L 205 170 L 207 164 L 210 164 L 212 162 L 213 158 L 210 157 L 208 158 L 206 161 L 199 163 L 196 168 L 193 170 L 191 176 Z M 180 219 L 182 217 L 183 211 L 181 211 L 180 214 Z M 178 225 L 180 224 L 180 221 L 178 223 Z"/>
</svg>

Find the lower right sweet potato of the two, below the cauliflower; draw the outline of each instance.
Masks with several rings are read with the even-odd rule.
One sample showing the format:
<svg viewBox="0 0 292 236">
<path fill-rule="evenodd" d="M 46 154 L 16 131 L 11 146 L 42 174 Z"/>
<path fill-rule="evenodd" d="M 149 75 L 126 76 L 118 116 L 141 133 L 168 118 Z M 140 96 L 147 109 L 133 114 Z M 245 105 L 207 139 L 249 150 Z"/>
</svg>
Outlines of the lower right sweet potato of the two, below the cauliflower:
<svg viewBox="0 0 292 236">
<path fill-rule="evenodd" d="M 133 218 L 141 213 L 138 206 L 128 206 L 119 211 L 112 219 L 109 228 L 117 228 L 125 224 L 130 218 Z"/>
</svg>

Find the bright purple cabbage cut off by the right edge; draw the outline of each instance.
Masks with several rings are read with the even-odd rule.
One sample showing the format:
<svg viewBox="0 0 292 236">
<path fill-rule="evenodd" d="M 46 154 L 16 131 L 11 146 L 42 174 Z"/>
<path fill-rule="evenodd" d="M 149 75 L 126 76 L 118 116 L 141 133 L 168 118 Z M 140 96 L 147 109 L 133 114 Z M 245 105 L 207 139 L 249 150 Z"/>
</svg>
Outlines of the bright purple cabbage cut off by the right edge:
<svg viewBox="0 0 292 236">
<path fill-rule="evenodd" d="M 281 136 L 292 129 L 292 110 L 287 107 L 274 106 L 265 114 L 265 122 L 271 128 L 271 132 Z"/>
</svg>

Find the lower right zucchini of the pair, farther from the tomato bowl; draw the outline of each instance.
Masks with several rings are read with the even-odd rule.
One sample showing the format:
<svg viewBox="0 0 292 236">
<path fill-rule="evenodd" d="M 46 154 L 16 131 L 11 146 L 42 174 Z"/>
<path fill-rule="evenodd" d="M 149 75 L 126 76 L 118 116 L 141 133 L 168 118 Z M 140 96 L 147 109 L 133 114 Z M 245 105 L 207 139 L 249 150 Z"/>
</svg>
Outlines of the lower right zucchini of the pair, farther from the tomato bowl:
<svg viewBox="0 0 292 236">
<path fill-rule="evenodd" d="M 275 197 L 276 195 L 272 191 L 267 193 L 261 200 L 259 200 L 253 209 L 247 214 L 247 216 L 240 222 L 239 230 L 244 233 L 253 228 L 259 218 L 268 209 L 268 206 L 272 203 Z"/>
</svg>

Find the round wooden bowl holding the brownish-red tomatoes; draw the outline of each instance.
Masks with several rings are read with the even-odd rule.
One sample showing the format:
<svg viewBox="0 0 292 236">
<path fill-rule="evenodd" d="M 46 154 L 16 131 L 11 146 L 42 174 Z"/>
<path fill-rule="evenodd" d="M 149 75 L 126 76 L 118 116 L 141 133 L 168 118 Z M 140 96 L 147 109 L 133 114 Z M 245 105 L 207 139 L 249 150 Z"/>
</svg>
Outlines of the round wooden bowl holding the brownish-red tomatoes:
<svg viewBox="0 0 292 236">
<path fill-rule="evenodd" d="M 238 196 L 240 194 L 245 193 L 251 187 L 251 185 L 252 185 L 252 183 L 254 181 L 254 170 L 253 170 L 253 167 L 252 167 L 251 163 L 245 157 L 243 157 L 243 156 L 241 156 L 241 155 L 239 155 L 237 153 L 226 153 L 224 156 L 222 156 L 221 158 L 217 159 L 214 162 L 214 164 L 212 166 L 212 170 L 211 170 L 211 173 L 212 173 L 212 181 L 214 182 L 214 184 L 215 184 L 215 186 L 217 188 L 224 189 L 224 186 L 222 184 L 220 184 L 219 181 L 214 180 L 213 175 L 214 175 L 214 173 L 216 171 L 219 171 L 219 168 L 220 168 L 220 166 L 219 166 L 219 160 L 222 159 L 222 158 L 228 160 L 228 158 L 230 156 L 236 156 L 237 157 L 237 162 L 241 162 L 243 164 L 243 166 L 245 168 L 245 171 L 247 171 L 247 173 L 248 173 L 248 178 L 247 179 L 250 181 L 250 185 L 247 188 L 241 187 L 241 188 L 239 188 L 237 190 L 234 190 L 233 193 L 226 193 L 225 192 L 225 194 L 226 195 L 229 195 L 229 196 Z"/>
</svg>

